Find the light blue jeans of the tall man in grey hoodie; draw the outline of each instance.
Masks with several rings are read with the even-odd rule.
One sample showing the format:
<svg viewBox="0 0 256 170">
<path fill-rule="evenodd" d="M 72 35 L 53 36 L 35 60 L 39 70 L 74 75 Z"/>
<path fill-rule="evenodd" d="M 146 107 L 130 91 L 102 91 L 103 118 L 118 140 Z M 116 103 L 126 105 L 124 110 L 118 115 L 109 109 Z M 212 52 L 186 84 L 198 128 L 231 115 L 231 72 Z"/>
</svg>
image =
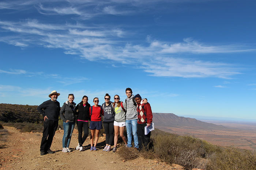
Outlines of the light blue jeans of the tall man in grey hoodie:
<svg viewBox="0 0 256 170">
<path fill-rule="evenodd" d="M 134 147 L 139 148 L 138 135 L 137 135 L 137 119 L 125 121 L 127 131 L 127 146 L 132 147 L 132 135 L 134 139 Z"/>
</svg>

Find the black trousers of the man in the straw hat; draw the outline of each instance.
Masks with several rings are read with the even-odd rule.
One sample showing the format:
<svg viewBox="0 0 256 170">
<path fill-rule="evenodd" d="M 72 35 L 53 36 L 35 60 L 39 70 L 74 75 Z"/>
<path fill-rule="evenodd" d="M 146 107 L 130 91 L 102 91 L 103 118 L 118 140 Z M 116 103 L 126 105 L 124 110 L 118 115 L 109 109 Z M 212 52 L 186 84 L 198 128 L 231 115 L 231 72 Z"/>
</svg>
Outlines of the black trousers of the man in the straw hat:
<svg viewBox="0 0 256 170">
<path fill-rule="evenodd" d="M 47 151 L 52 145 L 52 139 L 58 127 L 58 120 L 45 119 L 44 131 L 41 141 L 40 151 Z"/>
</svg>

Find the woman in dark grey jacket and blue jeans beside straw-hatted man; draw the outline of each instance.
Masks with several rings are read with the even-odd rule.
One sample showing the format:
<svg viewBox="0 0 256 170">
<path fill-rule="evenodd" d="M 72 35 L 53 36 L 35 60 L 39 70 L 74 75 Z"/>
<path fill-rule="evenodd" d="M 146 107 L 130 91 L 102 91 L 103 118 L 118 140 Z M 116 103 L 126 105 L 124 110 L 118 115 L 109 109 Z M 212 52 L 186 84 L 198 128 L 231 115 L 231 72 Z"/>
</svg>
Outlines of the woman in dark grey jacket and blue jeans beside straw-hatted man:
<svg viewBox="0 0 256 170">
<path fill-rule="evenodd" d="M 60 110 L 60 118 L 63 120 L 64 134 L 62 138 L 62 151 L 70 152 L 69 143 L 75 126 L 75 107 L 76 103 L 73 102 L 75 99 L 74 94 L 68 95 L 68 101 L 66 101 Z"/>
</svg>

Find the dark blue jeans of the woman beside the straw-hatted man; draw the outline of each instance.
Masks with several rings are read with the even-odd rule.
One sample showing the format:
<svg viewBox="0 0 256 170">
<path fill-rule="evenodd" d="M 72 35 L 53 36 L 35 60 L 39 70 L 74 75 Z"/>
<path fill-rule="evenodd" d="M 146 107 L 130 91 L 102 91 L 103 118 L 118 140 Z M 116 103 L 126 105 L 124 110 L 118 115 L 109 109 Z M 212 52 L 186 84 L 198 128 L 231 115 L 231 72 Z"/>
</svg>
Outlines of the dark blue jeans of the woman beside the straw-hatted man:
<svg viewBox="0 0 256 170">
<path fill-rule="evenodd" d="M 63 122 L 64 134 L 62 138 L 62 147 L 69 147 L 71 136 L 74 130 L 75 122 Z"/>
</svg>

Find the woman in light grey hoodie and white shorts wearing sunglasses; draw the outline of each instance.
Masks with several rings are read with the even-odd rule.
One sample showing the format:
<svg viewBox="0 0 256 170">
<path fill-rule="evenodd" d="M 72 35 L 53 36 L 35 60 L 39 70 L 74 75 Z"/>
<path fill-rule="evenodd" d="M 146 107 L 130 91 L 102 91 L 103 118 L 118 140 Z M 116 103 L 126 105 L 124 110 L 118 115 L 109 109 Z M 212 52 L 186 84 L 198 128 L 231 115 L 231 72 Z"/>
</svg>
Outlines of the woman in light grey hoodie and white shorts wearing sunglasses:
<svg viewBox="0 0 256 170">
<path fill-rule="evenodd" d="M 120 97 L 118 95 L 114 96 L 114 148 L 113 152 L 116 152 L 117 141 L 118 141 L 118 132 L 120 132 L 120 137 L 123 139 L 125 146 L 127 146 L 127 139 L 124 135 L 124 128 L 125 128 L 125 120 L 126 120 L 126 104 L 120 101 Z"/>
</svg>

